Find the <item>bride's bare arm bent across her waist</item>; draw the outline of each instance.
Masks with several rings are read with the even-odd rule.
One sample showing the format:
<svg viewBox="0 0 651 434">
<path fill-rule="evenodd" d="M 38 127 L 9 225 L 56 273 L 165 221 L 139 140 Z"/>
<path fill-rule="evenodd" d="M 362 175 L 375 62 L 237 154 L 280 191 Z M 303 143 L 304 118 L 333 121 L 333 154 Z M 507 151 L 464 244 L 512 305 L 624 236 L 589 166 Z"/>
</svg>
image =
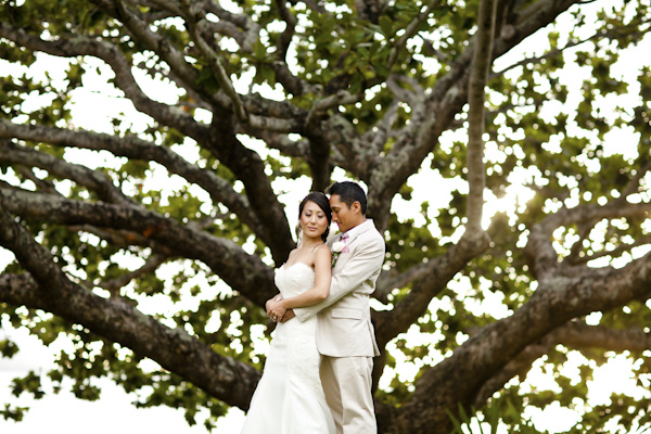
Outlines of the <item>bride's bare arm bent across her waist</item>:
<svg viewBox="0 0 651 434">
<path fill-rule="evenodd" d="M 293 297 L 282 298 L 271 306 L 271 315 L 282 318 L 288 309 L 311 306 L 324 301 L 330 293 L 332 254 L 326 245 L 315 252 L 315 286 Z"/>
</svg>

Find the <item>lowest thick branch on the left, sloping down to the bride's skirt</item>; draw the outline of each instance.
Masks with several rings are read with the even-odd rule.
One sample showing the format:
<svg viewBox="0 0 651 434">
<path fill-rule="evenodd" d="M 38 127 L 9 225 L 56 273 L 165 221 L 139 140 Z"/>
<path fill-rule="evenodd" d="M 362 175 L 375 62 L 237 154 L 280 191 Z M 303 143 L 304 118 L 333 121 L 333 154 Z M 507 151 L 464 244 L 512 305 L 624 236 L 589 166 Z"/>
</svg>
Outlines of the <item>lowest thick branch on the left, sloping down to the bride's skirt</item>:
<svg viewBox="0 0 651 434">
<path fill-rule="evenodd" d="M 69 281 L 43 247 L 29 240 L 20 225 L 8 222 L 11 218 L 2 214 L 0 244 L 16 253 L 21 264 L 30 270 L 30 273 L 0 275 L 2 302 L 42 309 L 81 324 L 130 348 L 139 357 L 155 360 L 212 396 L 243 410 L 248 408 L 260 376 L 255 368 L 218 355 L 182 328 L 169 329 L 120 298 L 102 298 Z"/>
</svg>

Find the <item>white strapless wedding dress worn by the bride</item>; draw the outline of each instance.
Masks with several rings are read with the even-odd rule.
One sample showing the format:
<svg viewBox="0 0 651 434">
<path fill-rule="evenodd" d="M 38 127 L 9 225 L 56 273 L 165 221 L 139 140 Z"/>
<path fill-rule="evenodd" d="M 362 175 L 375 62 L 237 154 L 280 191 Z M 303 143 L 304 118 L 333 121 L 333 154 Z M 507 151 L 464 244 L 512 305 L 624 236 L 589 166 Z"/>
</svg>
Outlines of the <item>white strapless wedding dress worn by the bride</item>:
<svg viewBox="0 0 651 434">
<path fill-rule="evenodd" d="M 283 297 L 301 294 L 315 284 L 315 272 L 304 263 L 276 270 Z M 334 434 L 334 420 L 326 404 L 319 378 L 316 316 L 301 322 L 279 323 L 244 421 L 242 434 Z"/>
</svg>

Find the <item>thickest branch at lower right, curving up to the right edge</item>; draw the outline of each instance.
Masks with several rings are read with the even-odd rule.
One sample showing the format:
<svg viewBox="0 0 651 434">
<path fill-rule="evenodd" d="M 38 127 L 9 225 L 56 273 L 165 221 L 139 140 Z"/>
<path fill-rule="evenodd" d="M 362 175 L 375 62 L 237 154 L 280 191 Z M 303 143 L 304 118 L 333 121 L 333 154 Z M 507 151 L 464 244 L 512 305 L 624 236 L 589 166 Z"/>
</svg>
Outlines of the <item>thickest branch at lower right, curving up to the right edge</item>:
<svg viewBox="0 0 651 434">
<path fill-rule="evenodd" d="M 651 254 L 591 278 L 541 282 L 534 296 L 511 317 L 485 327 L 436 369 L 427 370 L 394 423 L 407 432 L 422 432 L 432 423 L 450 426 L 444 409 L 454 409 L 457 403 L 467 408 L 476 404 L 475 396 L 484 384 L 532 342 L 573 318 L 650 295 Z"/>
</svg>

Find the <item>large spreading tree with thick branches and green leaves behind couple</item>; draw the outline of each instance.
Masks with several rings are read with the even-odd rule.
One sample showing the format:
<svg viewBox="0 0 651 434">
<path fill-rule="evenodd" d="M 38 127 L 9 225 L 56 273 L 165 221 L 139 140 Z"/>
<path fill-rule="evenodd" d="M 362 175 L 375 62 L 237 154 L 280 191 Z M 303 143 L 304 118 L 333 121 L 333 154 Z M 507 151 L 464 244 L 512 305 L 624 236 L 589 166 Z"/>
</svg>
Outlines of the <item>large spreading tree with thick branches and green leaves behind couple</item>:
<svg viewBox="0 0 651 434">
<path fill-rule="evenodd" d="M 518 409 L 551 400 L 580 409 L 577 431 L 648 423 L 648 399 L 591 407 L 585 382 L 616 353 L 642 382 L 651 367 L 651 69 L 611 73 L 651 12 L 590 3 L 0 1 L 2 321 L 71 340 L 47 374 L 79 397 L 107 376 L 190 421 L 246 410 L 273 268 L 295 246 L 286 189 L 356 179 L 387 246 L 380 432 L 448 433 L 500 406 L 524 430 Z M 54 58 L 65 74 L 34 72 Z M 71 115 L 97 74 L 93 90 L 132 104 L 112 130 Z M 488 213 L 514 191 L 528 195 Z M 520 387 L 536 360 L 561 393 Z"/>
</svg>

